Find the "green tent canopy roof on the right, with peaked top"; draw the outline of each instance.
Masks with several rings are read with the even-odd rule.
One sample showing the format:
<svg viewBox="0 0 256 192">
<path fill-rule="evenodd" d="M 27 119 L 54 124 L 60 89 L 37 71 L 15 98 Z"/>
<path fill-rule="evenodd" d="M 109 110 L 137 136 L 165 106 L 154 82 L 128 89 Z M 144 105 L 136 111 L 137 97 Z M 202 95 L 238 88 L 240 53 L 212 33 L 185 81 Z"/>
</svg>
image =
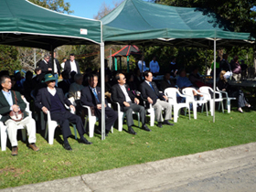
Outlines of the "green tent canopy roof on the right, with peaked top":
<svg viewBox="0 0 256 192">
<path fill-rule="evenodd" d="M 101 21 L 103 41 L 108 44 L 208 47 L 211 46 L 208 41 L 212 41 L 209 38 L 214 37 L 226 39 L 222 43 L 230 46 L 254 40 L 249 33 L 232 32 L 226 21 L 207 9 L 158 5 L 142 0 L 125 0 Z"/>
</svg>

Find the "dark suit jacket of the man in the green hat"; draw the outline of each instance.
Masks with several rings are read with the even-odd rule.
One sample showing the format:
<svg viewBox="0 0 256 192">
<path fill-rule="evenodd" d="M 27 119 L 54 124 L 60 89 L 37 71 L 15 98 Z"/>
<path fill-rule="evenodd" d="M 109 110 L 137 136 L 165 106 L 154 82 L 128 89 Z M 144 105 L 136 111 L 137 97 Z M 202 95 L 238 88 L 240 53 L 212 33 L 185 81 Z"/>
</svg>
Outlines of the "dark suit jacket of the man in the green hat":
<svg viewBox="0 0 256 192">
<path fill-rule="evenodd" d="M 64 96 L 64 93 L 61 89 L 59 88 L 55 88 L 56 89 L 56 94 L 59 95 L 59 100 L 61 101 L 61 103 L 63 105 L 71 105 L 71 102 L 68 100 L 68 98 L 66 98 Z M 47 88 L 42 88 L 40 90 L 38 90 L 37 92 L 37 97 L 36 97 L 36 101 L 35 101 L 35 106 L 41 110 L 42 107 L 46 107 L 48 108 L 48 111 L 50 111 L 50 107 L 51 107 L 51 102 L 50 102 L 50 93 L 48 92 Z M 68 110 L 68 109 L 67 109 Z M 45 118 L 47 118 L 47 115 L 45 115 Z"/>
</svg>

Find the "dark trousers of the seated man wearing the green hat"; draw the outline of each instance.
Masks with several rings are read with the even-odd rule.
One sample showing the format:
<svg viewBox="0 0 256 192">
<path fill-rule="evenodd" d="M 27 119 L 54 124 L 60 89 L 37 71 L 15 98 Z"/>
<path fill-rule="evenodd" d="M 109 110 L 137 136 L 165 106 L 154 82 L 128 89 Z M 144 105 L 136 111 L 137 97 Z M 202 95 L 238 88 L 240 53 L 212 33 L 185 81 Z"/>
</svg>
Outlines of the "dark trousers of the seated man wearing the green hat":
<svg viewBox="0 0 256 192">
<path fill-rule="evenodd" d="M 72 114 L 71 112 L 52 112 L 51 119 L 56 121 L 61 126 L 61 132 L 64 139 L 67 139 L 71 135 L 71 131 L 69 128 L 69 122 L 76 124 L 77 130 L 80 134 L 80 138 L 83 137 L 85 133 L 80 117 L 76 114 Z"/>
</svg>

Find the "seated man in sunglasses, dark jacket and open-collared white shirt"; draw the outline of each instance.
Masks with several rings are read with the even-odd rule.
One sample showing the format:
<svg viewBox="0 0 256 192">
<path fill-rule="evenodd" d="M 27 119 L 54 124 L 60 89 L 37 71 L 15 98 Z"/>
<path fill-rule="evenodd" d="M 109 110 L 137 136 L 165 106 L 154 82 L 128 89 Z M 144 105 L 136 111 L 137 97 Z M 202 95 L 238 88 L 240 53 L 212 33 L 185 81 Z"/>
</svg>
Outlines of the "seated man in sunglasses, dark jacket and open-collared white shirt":
<svg viewBox="0 0 256 192">
<path fill-rule="evenodd" d="M 122 73 L 117 73 L 115 78 L 118 84 L 112 86 L 112 101 L 119 102 L 121 106 L 121 111 L 126 112 L 128 132 L 131 134 L 136 134 L 132 128 L 132 125 L 134 124 L 133 112 L 140 112 L 140 116 L 142 118 L 143 123 L 142 128 L 145 131 L 150 132 L 151 130 L 144 123 L 144 107 L 138 105 L 140 101 L 133 95 L 132 91 L 130 91 L 130 88 L 127 85 L 125 85 L 125 76 Z"/>
</svg>

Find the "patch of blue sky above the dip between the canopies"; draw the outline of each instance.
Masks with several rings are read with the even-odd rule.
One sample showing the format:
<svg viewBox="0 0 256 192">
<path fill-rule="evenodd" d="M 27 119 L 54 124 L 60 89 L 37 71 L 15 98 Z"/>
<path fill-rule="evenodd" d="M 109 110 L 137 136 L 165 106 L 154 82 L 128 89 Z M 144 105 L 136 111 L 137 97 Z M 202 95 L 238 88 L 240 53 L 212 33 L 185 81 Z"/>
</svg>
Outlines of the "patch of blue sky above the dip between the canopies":
<svg viewBox="0 0 256 192">
<path fill-rule="evenodd" d="M 73 10 L 72 16 L 81 16 L 85 18 L 93 18 L 97 16 L 101 5 L 105 3 L 113 7 L 115 2 L 122 2 L 122 0 L 65 0 L 69 2 L 70 10 Z"/>
</svg>

